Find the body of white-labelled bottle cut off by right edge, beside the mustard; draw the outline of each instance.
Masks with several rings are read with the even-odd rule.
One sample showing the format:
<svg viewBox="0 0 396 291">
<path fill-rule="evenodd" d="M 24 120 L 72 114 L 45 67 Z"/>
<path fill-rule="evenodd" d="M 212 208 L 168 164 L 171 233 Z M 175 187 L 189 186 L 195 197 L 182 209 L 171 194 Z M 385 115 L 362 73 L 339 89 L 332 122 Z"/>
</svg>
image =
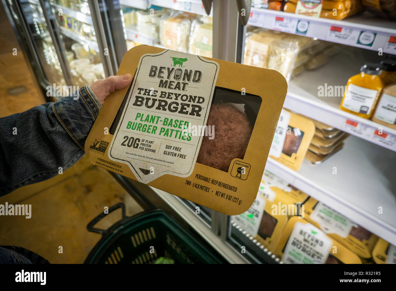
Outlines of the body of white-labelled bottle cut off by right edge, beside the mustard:
<svg viewBox="0 0 396 291">
<path fill-rule="evenodd" d="M 371 120 L 396 129 L 396 84 L 385 87 Z"/>
</svg>

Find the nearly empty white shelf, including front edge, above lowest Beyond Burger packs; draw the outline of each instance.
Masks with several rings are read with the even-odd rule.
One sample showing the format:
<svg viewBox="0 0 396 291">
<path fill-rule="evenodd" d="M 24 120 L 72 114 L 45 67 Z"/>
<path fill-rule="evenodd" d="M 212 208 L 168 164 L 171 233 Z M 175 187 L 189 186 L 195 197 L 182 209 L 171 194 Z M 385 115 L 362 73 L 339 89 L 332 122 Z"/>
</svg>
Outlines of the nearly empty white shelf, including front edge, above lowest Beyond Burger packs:
<svg viewBox="0 0 396 291">
<path fill-rule="evenodd" d="M 266 169 L 396 244 L 395 163 L 395 152 L 350 136 L 344 147 L 322 164 L 304 160 L 296 172 L 268 158 Z"/>
</svg>

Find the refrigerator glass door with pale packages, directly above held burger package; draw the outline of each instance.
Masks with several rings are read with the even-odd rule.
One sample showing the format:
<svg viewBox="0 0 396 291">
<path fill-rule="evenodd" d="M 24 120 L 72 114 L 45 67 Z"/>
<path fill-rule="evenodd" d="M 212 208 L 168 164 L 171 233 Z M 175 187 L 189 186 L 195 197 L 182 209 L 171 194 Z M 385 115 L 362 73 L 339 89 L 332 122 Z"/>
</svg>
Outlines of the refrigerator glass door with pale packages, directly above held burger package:
<svg viewBox="0 0 396 291">
<path fill-rule="evenodd" d="M 213 21 L 202 1 L 119 2 L 128 49 L 147 44 L 212 57 Z"/>
</svg>

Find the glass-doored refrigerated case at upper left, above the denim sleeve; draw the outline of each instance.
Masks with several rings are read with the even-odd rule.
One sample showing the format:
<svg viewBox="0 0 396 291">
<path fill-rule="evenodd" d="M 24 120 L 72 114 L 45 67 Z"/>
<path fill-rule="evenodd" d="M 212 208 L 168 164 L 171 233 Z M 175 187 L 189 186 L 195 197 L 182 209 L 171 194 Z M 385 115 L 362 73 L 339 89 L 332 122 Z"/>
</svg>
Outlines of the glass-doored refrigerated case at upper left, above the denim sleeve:
<svg viewBox="0 0 396 291">
<path fill-rule="evenodd" d="M 42 87 L 62 88 L 53 97 L 69 95 L 76 89 L 70 86 L 82 87 L 113 74 L 112 47 L 104 37 L 97 1 L 10 0 L 7 5 L 22 20 L 21 31 L 27 30 L 27 42 L 32 42 L 44 72 Z"/>
</svg>

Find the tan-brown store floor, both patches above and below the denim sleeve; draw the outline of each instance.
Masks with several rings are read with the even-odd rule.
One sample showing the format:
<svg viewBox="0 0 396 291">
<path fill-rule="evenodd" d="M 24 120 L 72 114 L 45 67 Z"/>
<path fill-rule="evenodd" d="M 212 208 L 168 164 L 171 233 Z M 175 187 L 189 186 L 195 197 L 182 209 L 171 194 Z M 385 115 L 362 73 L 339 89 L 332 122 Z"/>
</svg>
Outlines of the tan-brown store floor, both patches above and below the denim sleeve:
<svg viewBox="0 0 396 291">
<path fill-rule="evenodd" d="M 9 23 L 2 17 L 0 27 L 0 117 L 4 117 L 46 101 Z M 105 206 L 124 202 L 127 215 L 143 211 L 109 172 L 95 167 L 85 156 L 62 175 L 0 197 L 0 204 L 6 202 L 30 204 L 31 218 L 0 216 L 0 245 L 25 247 L 51 263 L 84 262 L 100 239 L 86 226 Z M 120 218 L 115 211 L 98 227 L 108 228 Z"/>
</svg>

